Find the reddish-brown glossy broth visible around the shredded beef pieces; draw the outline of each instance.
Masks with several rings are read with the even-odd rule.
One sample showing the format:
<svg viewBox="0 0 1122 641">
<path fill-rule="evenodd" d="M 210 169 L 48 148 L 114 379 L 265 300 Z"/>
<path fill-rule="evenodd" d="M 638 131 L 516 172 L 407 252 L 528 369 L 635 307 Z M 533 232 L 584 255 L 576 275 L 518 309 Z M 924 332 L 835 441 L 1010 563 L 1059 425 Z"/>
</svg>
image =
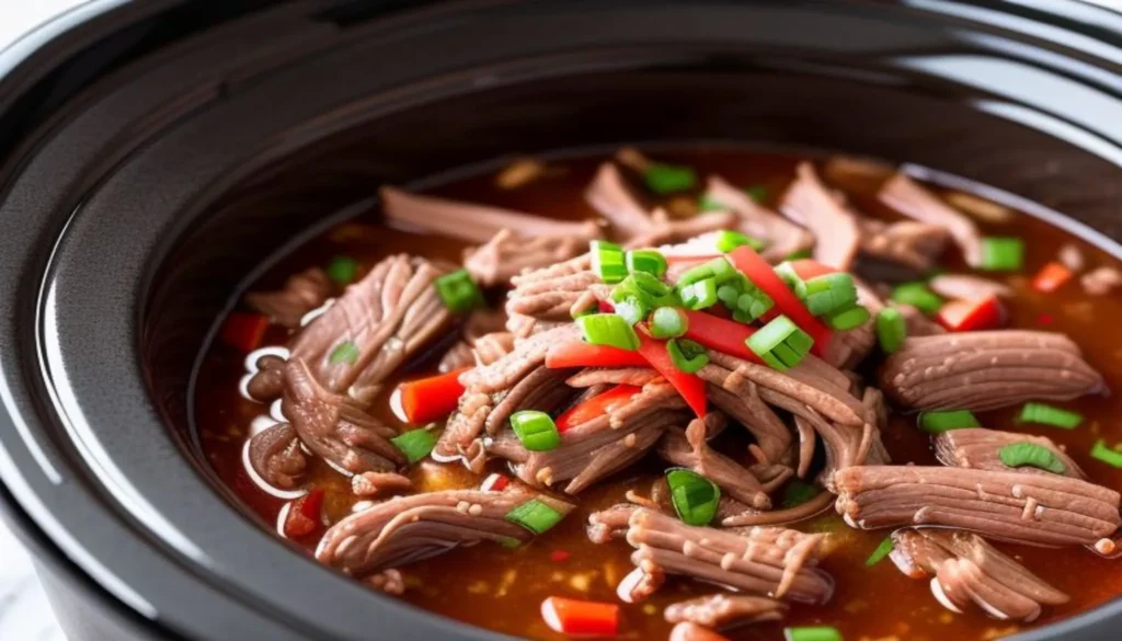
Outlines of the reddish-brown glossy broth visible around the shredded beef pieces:
<svg viewBox="0 0 1122 641">
<path fill-rule="evenodd" d="M 729 150 L 681 152 L 660 154 L 659 157 L 691 165 L 699 175 L 718 173 L 736 185 L 765 186 L 771 201 L 782 193 L 793 175 L 794 164 L 800 159 L 790 155 Z M 432 193 L 544 216 L 591 218 L 596 213 L 585 203 L 582 191 L 598 162 L 599 158 L 559 161 L 558 164 L 565 170 L 563 173 L 514 190 L 495 186 L 493 175 L 479 175 L 443 185 Z M 929 186 L 938 191 L 937 185 Z M 859 185 L 845 187 L 867 214 L 894 217 L 876 202 L 873 194 L 859 191 Z M 1031 276 L 1055 259 L 1065 244 L 1078 246 L 1092 266 L 1116 266 L 1118 262 L 1087 242 L 1027 214 L 1018 214 L 1005 223 L 980 222 L 980 226 L 987 235 L 1021 237 L 1028 247 L 1026 265 L 1020 273 L 992 276 L 1015 290 L 1015 296 L 1008 303 L 1011 312 L 1009 327 L 1067 333 L 1079 344 L 1087 361 L 1103 373 L 1109 386 L 1122 390 L 1122 333 L 1115 329 L 1122 324 L 1122 296 L 1118 293 L 1088 296 L 1077 283 L 1051 294 L 1037 293 L 1029 285 Z M 311 266 L 325 265 L 337 255 L 351 256 L 364 268 L 369 268 L 390 253 L 459 262 L 462 249 L 461 244 L 445 238 L 383 228 L 378 213 L 371 211 L 286 257 L 255 283 L 254 289 L 279 286 L 286 276 Z M 960 264 L 955 260 L 949 260 L 946 266 L 958 271 Z M 273 327 L 265 345 L 280 345 L 285 339 L 285 330 Z M 268 408 L 247 401 L 239 394 L 239 379 L 245 374 L 243 359 L 243 354 L 221 345 L 215 345 L 204 355 L 199 393 L 194 399 L 197 429 L 205 455 L 221 479 L 260 516 L 264 524 L 273 528 L 285 501 L 259 489 L 242 466 L 241 449 L 250 423 L 255 416 L 268 412 Z M 412 376 L 420 374 L 424 372 L 415 372 Z M 1122 488 L 1122 469 L 1088 456 L 1100 438 L 1112 445 L 1122 442 L 1122 402 L 1116 396 L 1092 396 L 1061 405 L 1084 414 L 1085 423 L 1075 430 L 1018 425 L 1013 423 L 1018 408 L 978 413 L 978 418 L 985 427 L 1047 436 L 1066 448 L 1094 483 Z M 379 418 L 404 429 L 388 411 L 385 401 L 379 401 L 376 408 L 380 408 L 377 410 Z M 883 439 L 894 464 L 932 464 L 935 460 L 929 437 L 916 429 L 913 418 L 894 415 Z M 743 446 L 739 451 L 744 452 Z M 407 585 L 403 598 L 434 613 L 500 632 L 532 639 L 563 639 L 542 622 L 539 614 L 541 602 L 549 596 L 568 596 L 618 603 L 615 586 L 632 568 L 632 549 L 626 543 L 616 541 L 596 546 L 588 541 L 585 533 L 588 514 L 622 502 L 627 489 L 645 494 L 651 480 L 663 467 L 657 461 L 649 461 L 597 484 L 579 496 L 579 509 L 561 525 L 528 546 L 515 550 L 476 546 L 401 568 Z M 459 464 L 440 465 L 433 461 L 415 466 L 412 476 L 419 491 L 475 487 L 480 480 Z M 357 498 L 350 493 L 347 478 L 318 463 L 309 482 L 327 489 L 325 515 L 330 522 L 350 513 Z M 822 567 L 836 579 L 833 598 L 824 606 L 794 605 L 785 621 L 727 632 L 729 639 L 774 641 L 782 638 L 784 626 L 818 624 L 838 628 L 847 641 L 993 639 L 1026 628 L 987 619 L 977 611 L 954 614 L 932 597 L 927 580 L 910 579 L 889 561 L 866 568 L 865 559 L 888 531 L 852 530 L 833 510 L 792 528 L 828 531 L 838 538 L 837 549 L 822 562 Z M 294 544 L 312 550 L 318 535 Z M 1082 547 L 1042 549 L 1002 543 L 996 547 L 1072 596 L 1065 605 L 1046 607 L 1043 615 L 1031 626 L 1086 611 L 1122 594 L 1119 561 L 1100 558 Z M 663 608 L 683 598 L 714 592 L 716 588 L 712 586 L 671 578 L 668 586 L 647 602 L 623 606 L 622 638 L 666 639 L 671 625 L 662 617 Z"/>
</svg>

